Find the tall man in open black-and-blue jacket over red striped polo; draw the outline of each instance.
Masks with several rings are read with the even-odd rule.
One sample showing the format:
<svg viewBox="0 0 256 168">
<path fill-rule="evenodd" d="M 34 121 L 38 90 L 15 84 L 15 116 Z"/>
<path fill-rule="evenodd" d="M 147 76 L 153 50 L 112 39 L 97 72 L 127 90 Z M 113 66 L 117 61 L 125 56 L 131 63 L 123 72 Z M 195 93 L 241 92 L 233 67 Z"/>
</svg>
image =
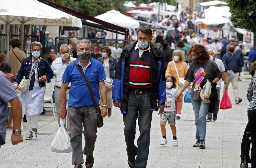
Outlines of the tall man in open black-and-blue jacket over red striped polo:
<svg viewBox="0 0 256 168">
<path fill-rule="evenodd" d="M 125 46 L 121 53 L 112 92 L 113 103 L 123 114 L 128 165 L 131 168 L 135 166 L 145 168 L 148 160 L 152 112 L 160 109 L 158 113 L 160 114 L 164 111 L 166 82 L 160 50 L 150 43 L 152 30 L 143 26 L 138 29 L 137 36 L 138 40 Z M 140 127 L 138 147 L 134 144 L 137 119 Z"/>
</svg>

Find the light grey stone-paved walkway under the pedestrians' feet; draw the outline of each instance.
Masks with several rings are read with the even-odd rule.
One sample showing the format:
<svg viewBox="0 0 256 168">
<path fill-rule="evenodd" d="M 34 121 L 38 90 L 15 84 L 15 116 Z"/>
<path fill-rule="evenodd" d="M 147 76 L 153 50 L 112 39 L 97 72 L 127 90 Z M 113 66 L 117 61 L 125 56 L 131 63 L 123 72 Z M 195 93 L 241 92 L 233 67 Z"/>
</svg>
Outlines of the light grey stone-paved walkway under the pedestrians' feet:
<svg viewBox="0 0 256 168">
<path fill-rule="evenodd" d="M 191 103 L 183 103 L 181 119 L 176 120 L 179 146 L 172 146 L 172 132 L 166 124 L 168 144 L 161 146 L 162 134 L 160 117 L 153 113 L 150 152 L 147 167 L 154 168 L 234 168 L 240 166 L 241 139 L 248 122 L 246 92 L 251 75 L 242 72 L 239 82 L 239 95 L 243 101 L 236 105 L 232 86 L 228 94 L 232 109 L 220 110 L 216 122 L 207 122 L 206 148 L 193 148 L 195 143 L 195 118 Z M 222 83 L 223 85 L 223 83 Z M 231 85 L 231 84 L 230 84 Z M 222 90 L 221 90 L 222 96 Z M 49 107 L 49 105 L 47 105 Z M 25 140 L 13 146 L 12 129 L 7 129 L 6 144 L 0 149 L 1 168 L 73 168 L 72 153 L 60 154 L 50 152 L 51 142 L 58 130 L 57 120 L 49 112 L 39 117 L 38 140 Z M 94 168 L 128 168 L 126 145 L 123 135 L 123 119 L 118 108 L 113 108 L 112 116 L 104 118 L 104 127 L 98 129 L 94 150 Z M 137 126 L 136 140 L 139 136 Z M 24 123 L 23 138 L 28 133 Z M 135 141 L 136 143 L 136 141 Z M 82 140 L 84 145 L 84 141 Z M 84 156 L 84 161 L 86 156 Z M 83 164 L 84 166 L 84 164 Z M 85 166 L 84 166 L 85 167 Z"/>
</svg>

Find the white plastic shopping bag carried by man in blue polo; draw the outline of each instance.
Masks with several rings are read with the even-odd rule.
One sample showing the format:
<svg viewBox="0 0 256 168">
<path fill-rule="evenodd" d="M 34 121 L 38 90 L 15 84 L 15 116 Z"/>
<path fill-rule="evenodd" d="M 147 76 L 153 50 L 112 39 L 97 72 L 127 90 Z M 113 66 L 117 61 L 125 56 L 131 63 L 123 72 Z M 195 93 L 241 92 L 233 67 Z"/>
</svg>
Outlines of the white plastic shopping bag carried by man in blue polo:
<svg viewBox="0 0 256 168">
<path fill-rule="evenodd" d="M 50 151 L 57 153 L 70 153 L 72 152 L 72 147 L 70 137 L 64 128 L 64 119 L 60 118 L 60 123 L 61 127 L 59 127 L 59 130 L 51 143 Z"/>
</svg>

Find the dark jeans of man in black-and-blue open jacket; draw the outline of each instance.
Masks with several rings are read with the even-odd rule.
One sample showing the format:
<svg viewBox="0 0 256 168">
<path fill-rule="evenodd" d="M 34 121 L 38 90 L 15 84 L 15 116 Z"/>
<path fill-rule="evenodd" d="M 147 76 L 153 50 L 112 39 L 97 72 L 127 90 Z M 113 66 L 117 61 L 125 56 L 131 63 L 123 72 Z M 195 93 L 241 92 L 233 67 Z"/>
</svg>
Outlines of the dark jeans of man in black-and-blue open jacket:
<svg viewBox="0 0 256 168">
<path fill-rule="evenodd" d="M 137 140 L 138 147 L 134 144 L 136 132 L 136 120 L 140 130 Z M 145 168 L 148 161 L 150 127 L 152 111 L 150 111 L 150 98 L 148 94 L 129 93 L 128 110 L 123 114 L 123 123 L 126 151 L 129 158 L 137 155 L 135 161 L 136 168 Z"/>
</svg>

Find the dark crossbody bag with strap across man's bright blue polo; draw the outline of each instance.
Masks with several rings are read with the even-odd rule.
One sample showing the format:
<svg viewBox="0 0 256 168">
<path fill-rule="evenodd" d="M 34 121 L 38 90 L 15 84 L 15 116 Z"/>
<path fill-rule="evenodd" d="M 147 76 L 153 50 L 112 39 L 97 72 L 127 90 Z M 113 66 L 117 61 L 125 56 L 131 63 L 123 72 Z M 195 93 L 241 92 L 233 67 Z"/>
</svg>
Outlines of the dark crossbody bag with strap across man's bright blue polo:
<svg viewBox="0 0 256 168">
<path fill-rule="evenodd" d="M 73 61 L 78 69 L 78 71 L 80 72 L 80 74 L 82 75 L 82 77 L 84 78 L 84 82 L 86 84 L 86 86 L 88 87 L 89 91 L 90 91 L 90 94 L 92 96 L 92 101 L 94 103 L 94 106 L 95 106 L 95 109 L 96 109 L 96 114 L 97 114 L 97 127 L 100 128 L 100 127 L 103 127 L 103 118 L 101 116 L 101 111 L 100 111 L 100 106 L 97 105 L 97 102 L 96 102 L 96 99 L 94 97 L 94 94 L 92 92 L 92 88 L 90 86 L 90 82 L 88 82 L 88 80 L 86 79 L 82 69 L 79 67 L 79 65 L 77 65 L 77 61 Z"/>
</svg>

